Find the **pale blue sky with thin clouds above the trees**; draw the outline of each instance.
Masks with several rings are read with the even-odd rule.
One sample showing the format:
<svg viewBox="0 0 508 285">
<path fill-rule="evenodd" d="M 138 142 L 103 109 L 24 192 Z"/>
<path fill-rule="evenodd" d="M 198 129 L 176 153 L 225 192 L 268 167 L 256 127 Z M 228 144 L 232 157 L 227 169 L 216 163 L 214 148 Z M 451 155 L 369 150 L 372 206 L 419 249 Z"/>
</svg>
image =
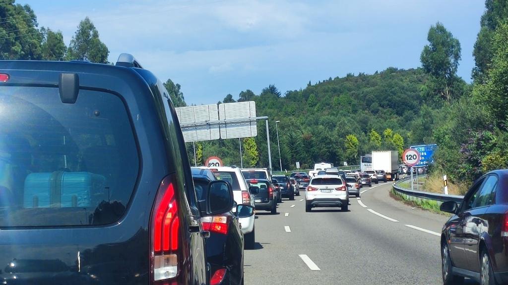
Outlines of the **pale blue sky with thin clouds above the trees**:
<svg viewBox="0 0 508 285">
<path fill-rule="evenodd" d="M 110 61 L 132 53 L 162 81 L 182 86 L 190 104 L 215 103 L 269 84 L 304 88 L 347 73 L 418 67 L 430 25 L 459 39 L 458 74 L 470 81 L 481 0 L 30 0 L 40 26 L 69 44 L 88 16 Z"/>
</svg>

